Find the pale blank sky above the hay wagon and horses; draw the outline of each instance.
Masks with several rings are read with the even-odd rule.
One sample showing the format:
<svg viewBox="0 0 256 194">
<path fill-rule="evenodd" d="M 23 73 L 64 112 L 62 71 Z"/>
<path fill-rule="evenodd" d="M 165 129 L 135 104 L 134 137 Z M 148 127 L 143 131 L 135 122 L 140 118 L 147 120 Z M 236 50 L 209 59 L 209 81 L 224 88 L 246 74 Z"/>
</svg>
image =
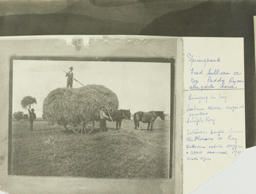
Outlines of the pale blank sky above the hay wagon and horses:
<svg viewBox="0 0 256 194">
<path fill-rule="evenodd" d="M 83 85 L 104 85 L 115 92 L 119 108 L 130 108 L 132 113 L 163 110 L 170 114 L 170 63 L 43 60 L 14 60 L 13 113 L 27 113 L 20 101 L 24 96 L 32 96 L 38 102 L 32 107 L 41 117 L 43 100 L 50 91 L 66 87 L 63 70 L 69 71 L 71 66 L 74 78 Z M 73 81 L 73 88 L 80 87 Z"/>
</svg>

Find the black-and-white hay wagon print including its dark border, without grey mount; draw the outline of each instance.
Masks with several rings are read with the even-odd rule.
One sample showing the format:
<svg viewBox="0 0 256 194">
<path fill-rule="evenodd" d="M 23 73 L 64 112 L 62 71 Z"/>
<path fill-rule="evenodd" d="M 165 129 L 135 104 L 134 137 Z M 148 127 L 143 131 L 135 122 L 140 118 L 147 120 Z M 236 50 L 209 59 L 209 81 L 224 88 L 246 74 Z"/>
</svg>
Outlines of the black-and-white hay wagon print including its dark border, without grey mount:
<svg viewBox="0 0 256 194">
<path fill-rule="evenodd" d="M 171 178 L 174 61 L 13 57 L 9 175 Z"/>
</svg>

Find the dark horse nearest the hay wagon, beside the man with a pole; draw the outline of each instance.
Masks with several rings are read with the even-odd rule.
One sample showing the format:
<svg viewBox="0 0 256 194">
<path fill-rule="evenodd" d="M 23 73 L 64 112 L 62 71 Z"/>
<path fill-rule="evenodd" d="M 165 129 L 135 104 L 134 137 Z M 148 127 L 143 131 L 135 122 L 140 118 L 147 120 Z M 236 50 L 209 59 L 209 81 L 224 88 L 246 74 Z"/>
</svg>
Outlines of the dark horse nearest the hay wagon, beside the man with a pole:
<svg viewBox="0 0 256 194">
<path fill-rule="evenodd" d="M 131 112 L 130 109 L 129 110 L 124 110 L 124 109 L 120 109 L 120 110 L 110 110 L 110 115 L 107 112 L 106 114 L 107 116 L 111 115 L 111 118 L 113 121 L 116 121 L 116 130 L 121 128 L 121 123 L 123 119 L 127 119 L 127 120 L 131 120 Z M 111 119 L 107 119 L 107 121 L 111 121 Z"/>
</svg>

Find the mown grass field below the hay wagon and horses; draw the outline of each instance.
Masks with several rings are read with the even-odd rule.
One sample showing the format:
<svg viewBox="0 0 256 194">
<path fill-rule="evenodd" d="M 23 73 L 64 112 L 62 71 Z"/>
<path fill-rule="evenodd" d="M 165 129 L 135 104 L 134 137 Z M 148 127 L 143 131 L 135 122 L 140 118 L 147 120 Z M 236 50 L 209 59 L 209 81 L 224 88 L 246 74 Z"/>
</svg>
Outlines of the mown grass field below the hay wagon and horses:
<svg viewBox="0 0 256 194">
<path fill-rule="evenodd" d="M 13 121 L 12 175 L 107 178 L 168 178 L 170 120 L 159 118 L 154 131 L 134 130 L 123 121 L 119 131 L 76 135 L 46 121 Z M 112 127 L 112 128 L 111 128 Z"/>
</svg>

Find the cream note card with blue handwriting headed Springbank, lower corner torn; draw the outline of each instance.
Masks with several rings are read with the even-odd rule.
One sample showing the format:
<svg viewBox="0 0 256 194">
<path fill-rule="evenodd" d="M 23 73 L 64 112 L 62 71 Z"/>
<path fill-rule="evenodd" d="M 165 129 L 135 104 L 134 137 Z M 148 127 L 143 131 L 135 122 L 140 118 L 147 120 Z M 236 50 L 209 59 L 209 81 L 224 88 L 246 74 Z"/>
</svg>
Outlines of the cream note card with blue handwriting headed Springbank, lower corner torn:
<svg viewBox="0 0 256 194">
<path fill-rule="evenodd" d="M 243 38 L 183 39 L 183 192 L 245 149 Z"/>
</svg>

